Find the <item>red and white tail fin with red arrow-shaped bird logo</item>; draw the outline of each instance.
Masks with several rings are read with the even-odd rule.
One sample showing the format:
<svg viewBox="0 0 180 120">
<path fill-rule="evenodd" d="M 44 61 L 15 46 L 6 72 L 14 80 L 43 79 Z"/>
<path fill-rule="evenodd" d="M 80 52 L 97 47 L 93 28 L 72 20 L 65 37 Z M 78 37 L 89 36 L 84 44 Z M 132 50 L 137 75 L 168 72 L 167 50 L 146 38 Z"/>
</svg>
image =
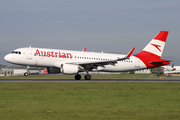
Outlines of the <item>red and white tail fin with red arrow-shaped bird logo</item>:
<svg viewBox="0 0 180 120">
<path fill-rule="evenodd" d="M 154 37 L 154 39 L 152 39 L 150 43 L 139 54 L 135 56 L 160 59 L 168 33 L 169 31 L 160 31 Z"/>
</svg>

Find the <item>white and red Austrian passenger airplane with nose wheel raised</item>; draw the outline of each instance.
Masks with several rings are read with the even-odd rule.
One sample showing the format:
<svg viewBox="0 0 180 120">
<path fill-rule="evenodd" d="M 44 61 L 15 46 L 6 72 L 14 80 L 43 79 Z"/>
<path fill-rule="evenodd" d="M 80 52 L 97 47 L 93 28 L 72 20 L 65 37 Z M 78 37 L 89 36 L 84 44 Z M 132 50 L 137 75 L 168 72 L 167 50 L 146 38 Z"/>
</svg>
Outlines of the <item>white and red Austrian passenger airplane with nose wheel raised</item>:
<svg viewBox="0 0 180 120">
<path fill-rule="evenodd" d="M 84 78 L 90 80 L 89 71 L 125 72 L 169 64 L 170 61 L 161 59 L 167 35 L 168 31 L 160 31 L 136 55 L 132 55 L 135 48 L 123 55 L 25 47 L 14 50 L 4 59 L 17 65 L 47 67 L 49 73 L 75 74 L 76 80 L 81 79 L 80 72 L 86 72 Z M 28 71 L 24 75 L 27 76 Z"/>
</svg>

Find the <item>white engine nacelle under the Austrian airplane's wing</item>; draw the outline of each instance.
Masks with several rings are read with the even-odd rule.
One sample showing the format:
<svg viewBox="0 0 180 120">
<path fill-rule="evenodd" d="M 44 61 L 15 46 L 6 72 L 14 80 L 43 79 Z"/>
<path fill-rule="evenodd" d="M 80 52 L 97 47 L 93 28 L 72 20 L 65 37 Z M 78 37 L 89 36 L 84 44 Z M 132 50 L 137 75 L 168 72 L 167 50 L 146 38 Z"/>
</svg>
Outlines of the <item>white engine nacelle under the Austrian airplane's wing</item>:
<svg viewBox="0 0 180 120">
<path fill-rule="evenodd" d="M 77 74 L 78 71 L 79 71 L 78 65 L 71 65 L 71 64 L 61 65 L 61 72 L 63 74 Z"/>
</svg>

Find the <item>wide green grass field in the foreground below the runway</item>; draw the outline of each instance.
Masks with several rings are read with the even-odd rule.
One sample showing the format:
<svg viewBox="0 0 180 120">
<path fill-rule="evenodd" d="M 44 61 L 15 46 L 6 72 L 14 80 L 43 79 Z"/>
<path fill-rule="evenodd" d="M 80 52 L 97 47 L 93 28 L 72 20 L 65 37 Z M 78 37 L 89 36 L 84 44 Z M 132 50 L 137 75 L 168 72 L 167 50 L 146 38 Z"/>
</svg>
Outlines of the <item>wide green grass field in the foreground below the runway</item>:
<svg viewBox="0 0 180 120">
<path fill-rule="evenodd" d="M 179 83 L 0 83 L 2 120 L 179 120 Z"/>
</svg>

